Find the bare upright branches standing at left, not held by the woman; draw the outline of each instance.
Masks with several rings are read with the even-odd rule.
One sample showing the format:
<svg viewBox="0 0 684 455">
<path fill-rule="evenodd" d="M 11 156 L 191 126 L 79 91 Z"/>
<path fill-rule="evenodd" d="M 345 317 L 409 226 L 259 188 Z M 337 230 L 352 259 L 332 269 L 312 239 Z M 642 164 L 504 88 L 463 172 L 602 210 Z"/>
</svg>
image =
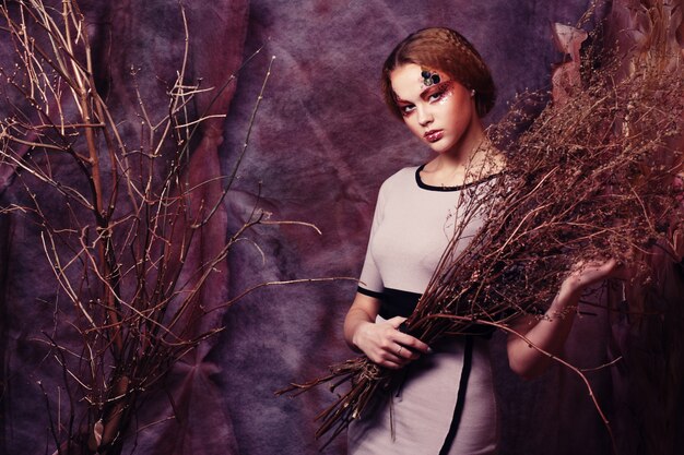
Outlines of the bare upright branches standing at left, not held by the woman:
<svg viewBox="0 0 684 455">
<path fill-rule="evenodd" d="M 236 299 L 208 301 L 204 290 L 226 268 L 228 250 L 251 227 L 279 221 L 255 207 L 226 239 L 217 214 L 235 172 L 201 181 L 189 177 L 193 137 L 203 122 L 225 116 L 193 113 L 196 96 L 211 88 L 187 81 L 182 8 L 186 49 L 166 111 L 149 109 L 131 74 L 140 127 L 140 143 L 131 147 L 130 131 L 125 140 L 121 130 L 126 122 L 97 91 L 83 14 L 75 1 L 55 4 L 0 5 L 3 40 L 15 61 L 0 68 L 0 89 L 11 107 L 0 122 L 0 172 L 27 194 L 25 204 L 2 212 L 28 214 L 40 226 L 40 244 L 75 313 L 55 324 L 75 331 L 75 348 L 64 342 L 73 334 L 45 333 L 71 403 L 70 419 L 50 418 L 56 453 L 116 454 L 142 394 L 220 331 L 203 321 Z M 215 89 L 215 97 L 224 88 Z M 258 103 L 250 129 L 257 108 Z M 248 139 L 249 133 L 245 148 Z M 190 267 L 200 239 L 216 232 L 222 247 Z M 273 284 L 279 283 L 268 285 Z M 80 420 L 79 403 L 87 408 Z"/>
</svg>

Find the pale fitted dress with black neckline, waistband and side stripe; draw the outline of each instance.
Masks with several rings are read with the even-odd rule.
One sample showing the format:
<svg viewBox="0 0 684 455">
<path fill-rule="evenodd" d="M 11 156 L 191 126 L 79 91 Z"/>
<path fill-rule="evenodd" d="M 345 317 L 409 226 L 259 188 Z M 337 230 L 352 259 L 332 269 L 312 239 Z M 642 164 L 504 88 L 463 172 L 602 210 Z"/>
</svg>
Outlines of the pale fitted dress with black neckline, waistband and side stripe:
<svg viewBox="0 0 684 455">
<path fill-rule="evenodd" d="M 384 300 L 379 319 L 410 314 L 405 302 L 415 302 L 425 291 L 462 218 L 459 207 L 491 181 L 431 187 L 422 182 L 421 170 L 400 170 L 382 183 L 378 195 L 358 291 Z M 469 221 L 459 249 L 481 225 L 477 217 Z M 398 384 L 377 394 L 350 424 L 350 455 L 496 453 L 487 338 L 449 338 L 432 348 L 433 354 L 410 363 Z"/>
</svg>

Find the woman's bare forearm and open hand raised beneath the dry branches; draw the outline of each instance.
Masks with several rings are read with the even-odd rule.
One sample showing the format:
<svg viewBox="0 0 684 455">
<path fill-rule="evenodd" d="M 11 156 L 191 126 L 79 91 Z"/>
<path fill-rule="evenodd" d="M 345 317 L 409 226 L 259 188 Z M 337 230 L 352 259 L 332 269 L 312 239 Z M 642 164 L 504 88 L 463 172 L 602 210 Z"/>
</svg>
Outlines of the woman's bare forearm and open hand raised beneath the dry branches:
<svg viewBox="0 0 684 455">
<path fill-rule="evenodd" d="M 524 335 L 540 349 L 554 356 L 559 355 L 573 328 L 575 312 L 583 290 L 614 276 L 618 268 L 615 260 L 579 267 L 563 282 L 544 316 L 541 319 L 532 315 L 521 316 L 510 325 L 510 328 Z M 552 360 L 530 343 L 516 334 L 508 335 L 508 363 L 512 371 L 528 379 L 541 374 Z"/>
</svg>

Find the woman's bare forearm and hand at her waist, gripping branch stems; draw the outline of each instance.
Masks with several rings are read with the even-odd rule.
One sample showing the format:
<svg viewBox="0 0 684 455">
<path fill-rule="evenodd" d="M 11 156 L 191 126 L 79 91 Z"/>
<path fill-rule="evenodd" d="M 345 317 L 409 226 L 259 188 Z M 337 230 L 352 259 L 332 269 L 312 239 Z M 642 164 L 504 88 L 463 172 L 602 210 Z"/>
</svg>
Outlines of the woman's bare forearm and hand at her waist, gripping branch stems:
<svg viewBox="0 0 684 455">
<path fill-rule="evenodd" d="M 391 369 L 402 368 L 421 354 L 428 352 L 429 347 L 425 343 L 399 331 L 405 318 L 376 323 L 379 311 L 378 299 L 356 292 L 344 319 L 344 339 L 352 349 Z"/>
</svg>

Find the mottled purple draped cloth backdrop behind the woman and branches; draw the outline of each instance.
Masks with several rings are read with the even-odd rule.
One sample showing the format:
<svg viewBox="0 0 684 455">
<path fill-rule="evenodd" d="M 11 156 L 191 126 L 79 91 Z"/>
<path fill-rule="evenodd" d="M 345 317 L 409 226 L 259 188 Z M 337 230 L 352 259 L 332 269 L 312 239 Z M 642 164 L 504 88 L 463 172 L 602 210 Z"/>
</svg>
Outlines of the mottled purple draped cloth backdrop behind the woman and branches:
<svg viewBox="0 0 684 455">
<path fill-rule="evenodd" d="M 270 57 L 276 57 L 238 183 L 212 230 L 193 246 L 192 263 L 211 253 L 212 242 L 235 232 L 255 204 L 271 212 L 273 219 L 308 221 L 322 231 L 318 236 L 297 226 L 258 227 L 247 235 L 252 242 L 231 252 L 205 301 L 223 301 L 267 280 L 357 276 L 380 182 L 400 167 L 428 159 L 425 147 L 390 118 L 380 98 L 379 69 L 397 41 L 425 26 L 462 32 L 497 82 L 499 100 L 486 119 L 496 121 L 517 92 L 550 87 L 552 64 L 564 58 L 554 49 L 551 24 L 575 24 L 588 3 L 186 1 L 191 76 L 202 77 L 203 86 L 220 86 L 262 49 L 213 105 L 212 112 L 228 117 L 204 125 L 189 170 L 196 181 L 233 169 L 266 68 Z M 616 14 L 615 9 L 638 3 L 615 2 L 613 11 L 599 9 L 598 16 L 628 28 L 634 16 Z M 90 0 L 81 7 L 91 24 L 109 106 L 121 118 L 135 118 L 130 76 L 134 68 L 149 109 L 163 110 L 163 82 L 174 79 L 184 46 L 176 1 Z M 681 40 L 682 33 L 673 39 Z M 4 47 L 1 56 L 7 62 Z M 208 103 L 200 97 L 196 110 L 203 111 Z M 134 131 L 129 134 L 133 141 Z M 21 185 L 13 183 L 11 175 L 0 176 L 2 204 L 25 201 Z M 0 218 L 2 454 L 55 450 L 37 383 L 51 402 L 58 399 L 61 370 L 45 357 L 47 348 L 39 339 L 52 326 L 59 302 L 37 236 L 37 227 L 21 216 Z M 568 342 L 568 357 L 578 367 L 624 356 L 617 367 L 588 373 L 613 422 L 621 454 L 673 454 L 684 442 L 684 359 L 679 354 L 684 351 L 684 318 L 681 306 L 672 304 L 681 303 L 684 295 L 677 287 L 681 274 L 681 266 L 664 271 L 662 292 L 651 296 L 667 318 L 635 324 L 597 310 L 578 321 Z M 350 356 L 341 324 L 355 286 L 340 280 L 268 287 L 223 314 L 216 312 L 208 323 L 226 330 L 184 358 L 165 390 L 144 403 L 137 422 L 144 428 L 137 435 L 137 453 L 317 453 L 312 418 L 333 396 L 321 390 L 291 400 L 275 398 L 273 392 L 290 381 L 319 375 L 327 364 Z M 618 295 L 613 300 L 620 300 Z M 503 345 L 503 336 L 496 335 L 502 454 L 609 453 L 605 429 L 577 376 L 554 367 L 523 383 L 508 371 Z M 175 402 L 173 419 L 167 418 L 174 415 L 169 396 Z M 125 452 L 132 447 L 131 440 Z M 328 453 L 344 453 L 343 439 Z"/>
</svg>

